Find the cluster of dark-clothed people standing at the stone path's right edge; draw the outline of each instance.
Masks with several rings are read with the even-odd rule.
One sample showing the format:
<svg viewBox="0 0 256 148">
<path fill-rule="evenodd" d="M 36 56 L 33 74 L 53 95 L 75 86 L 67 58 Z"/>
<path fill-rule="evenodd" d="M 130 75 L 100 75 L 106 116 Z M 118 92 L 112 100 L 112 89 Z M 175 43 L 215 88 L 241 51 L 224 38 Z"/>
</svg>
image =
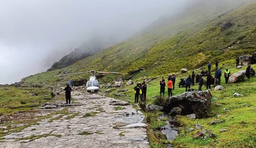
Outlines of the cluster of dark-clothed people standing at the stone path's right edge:
<svg viewBox="0 0 256 148">
<path fill-rule="evenodd" d="M 147 97 L 146 82 L 138 83 L 133 89 L 135 90 L 135 103 L 139 102 L 139 98 L 141 102 L 145 102 Z"/>
</svg>

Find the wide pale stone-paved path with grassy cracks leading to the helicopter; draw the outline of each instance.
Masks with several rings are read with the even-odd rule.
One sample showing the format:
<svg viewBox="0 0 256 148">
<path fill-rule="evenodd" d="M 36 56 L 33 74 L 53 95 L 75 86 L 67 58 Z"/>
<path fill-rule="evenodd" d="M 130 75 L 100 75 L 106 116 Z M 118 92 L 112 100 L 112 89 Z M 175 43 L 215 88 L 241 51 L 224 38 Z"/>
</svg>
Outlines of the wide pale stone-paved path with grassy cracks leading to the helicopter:
<svg viewBox="0 0 256 148">
<path fill-rule="evenodd" d="M 131 105 L 116 111 L 110 105 L 115 99 L 98 95 L 82 99 L 79 92 L 74 94 L 75 102 L 87 105 L 69 107 L 68 115 L 57 114 L 9 134 L 0 140 L 0 148 L 150 148 L 146 128 L 114 128 L 116 120 L 127 116 L 144 118 Z M 93 112 L 95 116 L 83 117 Z"/>
</svg>

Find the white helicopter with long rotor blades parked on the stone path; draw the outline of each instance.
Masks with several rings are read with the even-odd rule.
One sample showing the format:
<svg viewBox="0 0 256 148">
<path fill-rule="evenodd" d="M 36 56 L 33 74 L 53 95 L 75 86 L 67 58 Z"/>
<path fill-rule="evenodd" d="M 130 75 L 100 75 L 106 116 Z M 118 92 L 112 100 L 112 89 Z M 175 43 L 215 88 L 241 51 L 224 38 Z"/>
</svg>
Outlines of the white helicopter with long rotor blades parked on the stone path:
<svg viewBox="0 0 256 148">
<path fill-rule="evenodd" d="M 87 81 L 86 83 L 86 90 L 88 93 L 98 93 L 101 88 L 99 81 L 97 80 L 95 73 L 112 73 L 112 74 L 124 74 L 124 75 L 129 75 L 128 73 L 120 73 L 120 72 L 109 72 L 109 71 L 85 71 L 85 72 L 78 72 L 78 73 L 69 73 L 69 74 L 63 74 L 63 75 L 58 75 L 54 77 L 60 77 L 60 76 L 66 76 L 66 75 L 74 75 L 74 74 L 84 74 L 84 73 L 92 73 L 92 76 L 90 76 L 90 80 Z"/>
</svg>

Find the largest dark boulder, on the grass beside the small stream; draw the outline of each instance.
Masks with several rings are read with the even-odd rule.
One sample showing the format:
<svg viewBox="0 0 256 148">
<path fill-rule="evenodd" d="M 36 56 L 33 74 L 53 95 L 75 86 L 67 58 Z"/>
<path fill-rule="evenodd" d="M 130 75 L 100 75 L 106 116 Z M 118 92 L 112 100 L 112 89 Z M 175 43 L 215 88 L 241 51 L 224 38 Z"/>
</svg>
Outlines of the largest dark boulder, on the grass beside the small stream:
<svg viewBox="0 0 256 148">
<path fill-rule="evenodd" d="M 212 95 L 209 91 L 185 92 L 171 97 L 163 111 L 170 113 L 174 107 L 182 109 L 182 115 L 194 113 L 197 118 L 205 117 L 210 108 Z"/>
</svg>

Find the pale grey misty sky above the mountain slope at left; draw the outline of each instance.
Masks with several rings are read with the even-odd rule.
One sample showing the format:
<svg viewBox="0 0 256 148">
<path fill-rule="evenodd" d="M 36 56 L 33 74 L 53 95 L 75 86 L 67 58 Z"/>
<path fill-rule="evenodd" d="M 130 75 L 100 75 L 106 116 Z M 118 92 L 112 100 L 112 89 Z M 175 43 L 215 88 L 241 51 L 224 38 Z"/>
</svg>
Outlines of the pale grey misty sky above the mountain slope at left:
<svg viewBox="0 0 256 148">
<path fill-rule="evenodd" d="M 120 41 L 186 0 L 0 0 L 0 84 L 47 70 L 92 36 Z"/>
</svg>

